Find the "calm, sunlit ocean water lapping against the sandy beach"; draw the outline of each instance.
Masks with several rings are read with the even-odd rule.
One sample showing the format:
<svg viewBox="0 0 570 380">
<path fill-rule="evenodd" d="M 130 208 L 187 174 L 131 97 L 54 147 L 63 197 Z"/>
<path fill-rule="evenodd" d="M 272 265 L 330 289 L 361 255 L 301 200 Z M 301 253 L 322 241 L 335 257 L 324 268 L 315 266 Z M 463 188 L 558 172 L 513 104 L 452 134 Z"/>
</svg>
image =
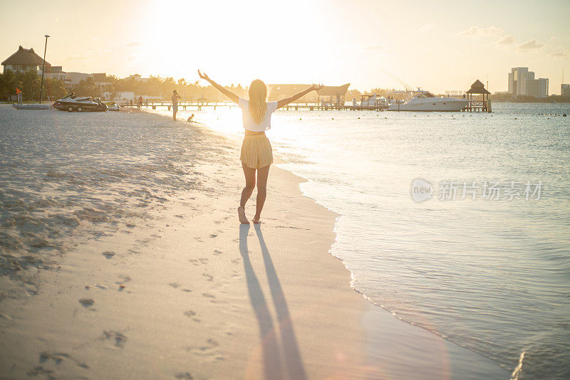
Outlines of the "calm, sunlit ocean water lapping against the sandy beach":
<svg viewBox="0 0 570 380">
<path fill-rule="evenodd" d="M 570 105 L 493 108 L 283 111 L 267 134 L 340 215 L 331 254 L 355 290 L 513 379 L 569 379 Z M 237 107 L 190 113 L 239 139 Z"/>
</svg>

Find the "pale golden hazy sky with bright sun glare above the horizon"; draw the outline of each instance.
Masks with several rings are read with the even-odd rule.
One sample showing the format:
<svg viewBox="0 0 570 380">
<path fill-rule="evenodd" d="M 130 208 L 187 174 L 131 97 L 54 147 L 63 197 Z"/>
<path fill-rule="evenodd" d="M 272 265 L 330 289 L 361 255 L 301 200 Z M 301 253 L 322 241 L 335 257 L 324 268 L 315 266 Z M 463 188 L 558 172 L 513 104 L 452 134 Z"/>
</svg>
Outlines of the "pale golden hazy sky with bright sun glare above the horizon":
<svg viewBox="0 0 570 380">
<path fill-rule="evenodd" d="M 48 5 L 46 5 L 48 4 Z M 507 90 L 529 67 L 570 83 L 570 1 L 11 1 L 0 59 L 19 45 L 64 71 L 138 73 L 223 85 L 323 83 L 351 89 Z M 6 31 L 13 31 L 8 33 Z M 203 81 L 200 82 L 205 85 Z"/>
</svg>

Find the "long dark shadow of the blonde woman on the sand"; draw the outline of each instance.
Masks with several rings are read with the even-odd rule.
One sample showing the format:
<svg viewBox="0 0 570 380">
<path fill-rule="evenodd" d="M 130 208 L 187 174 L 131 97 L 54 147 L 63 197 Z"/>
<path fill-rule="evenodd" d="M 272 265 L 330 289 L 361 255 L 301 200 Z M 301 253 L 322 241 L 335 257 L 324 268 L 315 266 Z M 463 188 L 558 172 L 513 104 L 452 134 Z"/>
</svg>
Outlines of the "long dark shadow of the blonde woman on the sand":
<svg viewBox="0 0 570 380">
<path fill-rule="evenodd" d="M 242 254 L 244 260 L 249 301 L 252 302 L 257 323 L 259 324 L 265 379 L 289 378 L 304 380 L 306 379 L 305 369 L 303 361 L 301 361 L 301 355 L 299 354 L 299 347 L 297 347 L 295 332 L 291 322 L 291 316 L 289 315 L 289 307 L 287 307 L 281 283 L 279 283 L 271 255 L 269 255 L 269 249 L 264 241 L 260 226 L 254 225 L 255 233 L 259 239 L 259 246 L 261 247 L 261 255 L 263 256 L 265 264 L 271 298 L 273 299 L 273 305 L 279 322 L 281 345 L 279 345 L 276 329 L 271 320 L 269 307 L 267 306 L 263 291 L 259 285 L 259 280 L 257 280 L 252 262 L 249 260 L 249 251 L 247 249 L 249 228 L 249 224 L 239 226 L 239 253 Z M 281 360 L 280 348 L 284 354 L 283 362 Z M 284 371 L 286 371 L 286 373 L 284 373 Z"/>
</svg>

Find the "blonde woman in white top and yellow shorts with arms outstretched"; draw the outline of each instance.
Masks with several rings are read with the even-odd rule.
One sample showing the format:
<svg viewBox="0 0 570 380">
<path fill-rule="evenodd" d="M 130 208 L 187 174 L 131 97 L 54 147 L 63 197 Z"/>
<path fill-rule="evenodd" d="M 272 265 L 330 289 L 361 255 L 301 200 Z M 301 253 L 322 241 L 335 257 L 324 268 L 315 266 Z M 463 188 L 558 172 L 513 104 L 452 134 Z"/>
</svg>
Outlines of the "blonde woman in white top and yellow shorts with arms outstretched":
<svg viewBox="0 0 570 380">
<path fill-rule="evenodd" d="M 256 79 L 249 85 L 248 100 L 223 88 L 210 79 L 208 75 L 201 73 L 200 70 L 198 70 L 198 75 L 200 78 L 207 80 L 220 93 L 229 97 L 229 100 L 232 100 L 242 109 L 245 136 L 239 159 L 242 161 L 242 168 L 244 169 L 245 187 L 242 190 L 242 199 L 239 201 L 237 215 L 240 222 L 249 223 L 245 216 L 245 204 L 254 191 L 255 171 L 257 170 L 257 204 L 253 222 L 261 223 L 261 210 L 267 194 L 267 176 L 269 176 L 269 167 L 273 164 L 271 143 L 265 135 L 265 131 L 271 128 L 271 113 L 313 90 L 320 90 L 323 86 L 311 85 L 311 87 L 291 97 L 286 97 L 278 102 L 267 102 L 267 87 L 262 80 Z"/>
</svg>

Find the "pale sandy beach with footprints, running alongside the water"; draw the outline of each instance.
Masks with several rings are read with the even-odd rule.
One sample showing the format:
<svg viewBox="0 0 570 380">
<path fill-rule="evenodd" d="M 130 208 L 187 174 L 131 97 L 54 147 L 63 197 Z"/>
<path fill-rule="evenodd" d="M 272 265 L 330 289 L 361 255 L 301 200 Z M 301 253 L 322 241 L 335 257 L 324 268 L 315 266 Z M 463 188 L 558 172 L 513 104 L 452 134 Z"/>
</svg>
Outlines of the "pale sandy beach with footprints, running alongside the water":
<svg viewBox="0 0 570 380">
<path fill-rule="evenodd" d="M 240 225 L 232 140 L 144 112 L 0 124 L 2 379 L 509 377 L 353 290 L 300 177 L 272 167 Z"/>
</svg>

